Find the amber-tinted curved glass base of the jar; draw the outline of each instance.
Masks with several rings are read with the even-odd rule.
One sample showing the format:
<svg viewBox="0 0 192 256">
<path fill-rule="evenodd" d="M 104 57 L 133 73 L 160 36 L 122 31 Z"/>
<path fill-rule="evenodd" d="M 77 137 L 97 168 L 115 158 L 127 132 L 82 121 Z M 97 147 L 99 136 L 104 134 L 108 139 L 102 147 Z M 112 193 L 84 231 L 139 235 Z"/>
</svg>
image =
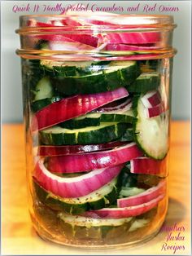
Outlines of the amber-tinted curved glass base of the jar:
<svg viewBox="0 0 192 256">
<path fill-rule="evenodd" d="M 34 208 L 34 207 L 33 207 Z M 150 241 L 154 236 L 159 233 L 160 227 L 164 223 L 164 218 L 167 214 L 168 200 L 159 203 L 155 216 L 151 219 L 151 222 L 146 227 L 137 228 L 133 232 L 127 232 L 126 234 L 119 236 L 116 234 L 114 238 L 108 238 L 108 240 L 102 239 L 89 239 L 84 237 L 83 239 L 76 239 L 72 237 L 66 237 L 60 231 L 59 226 L 56 223 L 42 222 L 42 218 L 39 218 L 37 212 L 31 213 L 33 221 L 33 227 L 35 228 L 38 236 L 44 241 L 51 241 L 59 245 L 67 245 L 70 247 L 78 247 L 82 249 L 120 249 L 123 247 L 133 247 L 141 245 Z M 83 235 L 81 235 L 81 238 Z"/>
</svg>

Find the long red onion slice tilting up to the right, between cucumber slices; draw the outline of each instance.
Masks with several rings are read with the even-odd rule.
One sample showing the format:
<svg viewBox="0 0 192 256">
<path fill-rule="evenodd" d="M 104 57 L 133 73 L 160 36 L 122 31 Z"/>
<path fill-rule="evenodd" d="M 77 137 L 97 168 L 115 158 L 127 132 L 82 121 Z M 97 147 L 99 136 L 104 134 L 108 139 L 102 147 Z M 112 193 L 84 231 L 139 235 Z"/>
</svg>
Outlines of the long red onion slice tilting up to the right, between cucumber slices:
<svg viewBox="0 0 192 256">
<path fill-rule="evenodd" d="M 42 130 L 50 126 L 55 126 L 59 122 L 85 115 L 95 108 L 99 108 L 116 99 L 127 97 L 128 95 L 128 91 L 124 87 L 120 87 L 112 91 L 92 95 L 75 95 L 61 99 L 42 108 L 33 115 L 31 130 Z"/>
</svg>

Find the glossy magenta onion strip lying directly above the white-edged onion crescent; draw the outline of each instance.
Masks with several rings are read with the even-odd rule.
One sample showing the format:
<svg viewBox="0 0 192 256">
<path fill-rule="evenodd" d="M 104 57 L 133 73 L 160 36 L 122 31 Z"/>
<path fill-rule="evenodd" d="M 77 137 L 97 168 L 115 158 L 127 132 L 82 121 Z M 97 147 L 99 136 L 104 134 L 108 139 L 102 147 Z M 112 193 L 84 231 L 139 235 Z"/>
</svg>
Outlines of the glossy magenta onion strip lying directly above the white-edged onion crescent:
<svg viewBox="0 0 192 256">
<path fill-rule="evenodd" d="M 141 157 L 142 155 L 143 153 L 137 148 L 136 143 L 129 143 L 125 146 L 104 152 L 50 157 L 48 169 L 55 173 L 85 172 L 117 166 L 136 157 Z"/>
</svg>

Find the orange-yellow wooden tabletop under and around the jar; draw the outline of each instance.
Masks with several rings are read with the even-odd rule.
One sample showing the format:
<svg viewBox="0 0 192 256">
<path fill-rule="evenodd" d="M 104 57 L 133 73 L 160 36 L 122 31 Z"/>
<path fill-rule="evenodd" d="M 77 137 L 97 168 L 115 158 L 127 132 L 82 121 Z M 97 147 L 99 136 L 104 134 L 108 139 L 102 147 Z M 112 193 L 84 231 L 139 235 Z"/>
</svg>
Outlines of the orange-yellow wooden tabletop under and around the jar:
<svg viewBox="0 0 192 256">
<path fill-rule="evenodd" d="M 182 246 L 176 254 L 190 254 L 190 122 L 172 121 L 169 173 L 169 208 L 164 225 L 183 226 L 184 241 L 168 241 Z M 89 251 L 55 245 L 41 240 L 30 222 L 25 186 L 24 128 L 21 124 L 2 126 L 2 254 L 173 254 L 162 250 L 168 232 L 161 231 L 145 245 L 134 248 Z M 183 248 L 185 247 L 185 249 Z"/>
</svg>

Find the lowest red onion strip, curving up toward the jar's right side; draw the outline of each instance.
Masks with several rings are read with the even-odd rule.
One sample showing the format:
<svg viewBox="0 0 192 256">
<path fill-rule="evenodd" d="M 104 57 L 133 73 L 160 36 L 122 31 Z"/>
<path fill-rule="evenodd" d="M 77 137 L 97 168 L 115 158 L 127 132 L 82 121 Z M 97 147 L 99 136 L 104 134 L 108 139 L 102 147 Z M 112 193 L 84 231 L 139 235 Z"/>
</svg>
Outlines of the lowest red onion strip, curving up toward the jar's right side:
<svg viewBox="0 0 192 256">
<path fill-rule="evenodd" d="M 91 218 L 128 218 L 145 214 L 147 211 L 158 205 L 159 201 L 164 199 L 165 194 L 161 194 L 155 199 L 142 205 L 135 205 L 124 208 L 103 208 L 101 210 L 89 210 L 82 214 Z"/>
</svg>

